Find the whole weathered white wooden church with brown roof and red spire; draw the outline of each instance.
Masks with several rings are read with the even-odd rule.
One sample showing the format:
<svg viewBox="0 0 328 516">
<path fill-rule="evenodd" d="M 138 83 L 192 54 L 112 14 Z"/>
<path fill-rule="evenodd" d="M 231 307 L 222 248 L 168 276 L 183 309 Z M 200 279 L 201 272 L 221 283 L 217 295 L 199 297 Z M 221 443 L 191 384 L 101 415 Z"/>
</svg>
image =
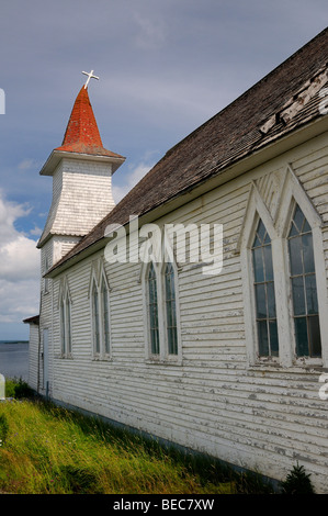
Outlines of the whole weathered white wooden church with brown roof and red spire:
<svg viewBox="0 0 328 516">
<path fill-rule="evenodd" d="M 328 493 L 327 64 L 325 30 L 117 205 L 125 158 L 81 88 L 41 170 L 35 391 L 273 479 L 298 461 Z"/>
</svg>

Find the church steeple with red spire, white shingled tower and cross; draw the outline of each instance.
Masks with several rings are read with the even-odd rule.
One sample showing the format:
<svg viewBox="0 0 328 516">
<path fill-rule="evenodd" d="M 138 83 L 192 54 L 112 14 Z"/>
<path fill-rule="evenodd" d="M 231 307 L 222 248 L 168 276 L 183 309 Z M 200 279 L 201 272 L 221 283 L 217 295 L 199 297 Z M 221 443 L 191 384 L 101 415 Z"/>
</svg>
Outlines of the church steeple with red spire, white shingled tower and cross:
<svg viewBox="0 0 328 516">
<path fill-rule="evenodd" d="M 104 148 L 87 86 L 73 103 L 63 144 L 39 172 L 53 177 L 53 202 L 38 242 L 44 247 L 52 240 L 52 263 L 114 207 L 112 175 L 125 160 Z"/>
</svg>

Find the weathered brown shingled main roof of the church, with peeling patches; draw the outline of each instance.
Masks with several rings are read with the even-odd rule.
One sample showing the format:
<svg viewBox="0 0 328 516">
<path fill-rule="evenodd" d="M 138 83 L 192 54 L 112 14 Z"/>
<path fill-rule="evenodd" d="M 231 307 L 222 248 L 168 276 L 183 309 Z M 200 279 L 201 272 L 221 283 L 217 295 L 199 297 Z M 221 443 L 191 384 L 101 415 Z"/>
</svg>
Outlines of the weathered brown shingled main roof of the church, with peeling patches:
<svg viewBox="0 0 328 516">
<path fill-rule="evenodd" d="M 127 224 L 190 192 L 227 167 L 321 117 L 327 82 L 328 29 L 213 116 L 163 158 L 49 272 L 104 238 L 110 224 Z"/>
</svg>

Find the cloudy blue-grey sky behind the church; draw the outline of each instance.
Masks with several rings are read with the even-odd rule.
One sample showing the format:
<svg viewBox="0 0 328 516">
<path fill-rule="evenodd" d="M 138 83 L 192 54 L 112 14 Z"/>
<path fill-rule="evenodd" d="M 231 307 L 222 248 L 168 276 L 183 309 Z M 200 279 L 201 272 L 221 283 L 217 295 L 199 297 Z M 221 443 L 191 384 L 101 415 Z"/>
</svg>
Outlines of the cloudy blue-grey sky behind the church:
<svg viewBox="0 0 328 516">
<path fill-rule="evenodd" d="M 0 340 L 38 314 L 36 244 L 52 202 L 39 170 L 89 97 L 126 157 L 116 202 L 179 141 L 326 27 L 326 0 L 1 0 Z M 1 93 L 0 90 L 0 93 Z M 2 94 L 2 100 L 3 100 Z"/>
</svg>

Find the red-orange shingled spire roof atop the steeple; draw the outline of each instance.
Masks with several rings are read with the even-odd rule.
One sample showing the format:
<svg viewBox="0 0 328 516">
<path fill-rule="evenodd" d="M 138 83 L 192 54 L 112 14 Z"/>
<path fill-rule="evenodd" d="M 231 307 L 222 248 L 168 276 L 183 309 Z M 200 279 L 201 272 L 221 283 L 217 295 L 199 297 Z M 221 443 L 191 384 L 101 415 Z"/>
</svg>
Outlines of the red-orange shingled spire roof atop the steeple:
<svg viewBox="0 0 328 516">
<path fill-rule="evenodd" d="M 88 88 L 84 88 L 84 86 L 75 101 L 63 144 L 55 150 L 121 157 L 118 154 L 103 147 L 89 99 Z"/>
</svg>

